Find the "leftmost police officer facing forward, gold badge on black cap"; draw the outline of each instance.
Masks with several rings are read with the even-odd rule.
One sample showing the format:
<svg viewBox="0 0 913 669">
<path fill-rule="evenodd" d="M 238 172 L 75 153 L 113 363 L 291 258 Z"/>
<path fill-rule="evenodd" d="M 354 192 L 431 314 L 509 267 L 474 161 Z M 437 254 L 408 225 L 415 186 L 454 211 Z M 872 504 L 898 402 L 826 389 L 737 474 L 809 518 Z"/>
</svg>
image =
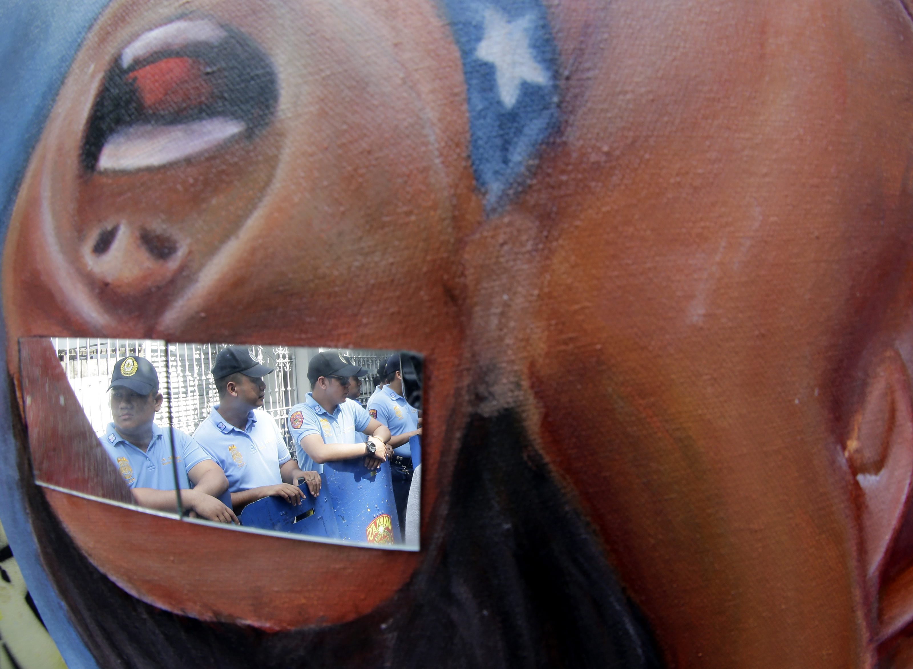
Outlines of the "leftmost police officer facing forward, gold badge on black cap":
<svg viewBox="0 0 913 669">
<path fill-rule="evenodd" d="M 217 498 L 228 487 L 219 465 L 181 430 L 163 430 L 155 424 L 155 413 L 162 407 L 163 397 L 152 362 L 140 356 L 115 362 L 108 390 L 114 420 L 108 423 L 101 443 L 130 486 L 136 503 L 175 511 L 174 490 L 180 487 L 185 510 L 209 520 L 236 523 L 232 509 Z"/>
</svg>

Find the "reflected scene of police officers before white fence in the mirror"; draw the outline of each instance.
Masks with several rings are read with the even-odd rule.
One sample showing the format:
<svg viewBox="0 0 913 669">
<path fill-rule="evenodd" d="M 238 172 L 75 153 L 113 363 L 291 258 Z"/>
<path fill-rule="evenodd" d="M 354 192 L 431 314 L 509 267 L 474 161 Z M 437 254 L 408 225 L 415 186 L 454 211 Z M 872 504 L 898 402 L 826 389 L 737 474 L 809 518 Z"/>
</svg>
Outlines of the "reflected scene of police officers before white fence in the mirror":
<svg viewBox="0 0 913 669">
<path fill-rule="evenodd" d="M 51 344 L 134 504 L 228 527 L 417 548 L 420 355 L 161 340 Z M 26 409 L 26 423 L 37 417 Z"/>
</svg>

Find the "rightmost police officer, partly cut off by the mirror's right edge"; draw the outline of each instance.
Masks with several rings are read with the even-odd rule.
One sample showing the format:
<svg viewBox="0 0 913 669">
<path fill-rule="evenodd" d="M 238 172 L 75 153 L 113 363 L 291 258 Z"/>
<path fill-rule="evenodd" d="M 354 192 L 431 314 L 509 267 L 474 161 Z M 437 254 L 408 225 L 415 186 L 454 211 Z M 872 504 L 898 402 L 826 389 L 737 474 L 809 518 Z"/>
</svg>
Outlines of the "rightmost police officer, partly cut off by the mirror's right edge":
<svg viewBox="0 0 913 669">
<path fill-rule="evenodd" d="M 418 426 L 418 411 L 403 396 L 403 373 L 400 371 L 400 354 L 394 353 L 384 367 L 384 386 L 368 400 L 368 413 L 385 425 L 392 434 L 389 444 L 394 448 L 390 460 L 394 481 L 396 513 L 400 528 L 405 530 L 405 507 L 412 483 L 413 465 L 409 439 L 422 434 Z M 403 532 L 405 533 L 405 532 Z"/>
</svg>

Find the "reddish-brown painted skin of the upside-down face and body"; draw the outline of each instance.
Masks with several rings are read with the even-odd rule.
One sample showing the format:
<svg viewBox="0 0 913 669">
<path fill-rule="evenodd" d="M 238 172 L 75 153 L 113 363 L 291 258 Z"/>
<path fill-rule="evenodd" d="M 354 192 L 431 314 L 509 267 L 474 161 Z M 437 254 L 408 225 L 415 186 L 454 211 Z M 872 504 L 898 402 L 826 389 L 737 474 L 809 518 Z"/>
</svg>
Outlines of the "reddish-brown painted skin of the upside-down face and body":
<svg viewBox="0 0 913 669">
<path fill-rule="evenodd" d="M 485 389 L 473 409 L 521 410 L 670 664 L 909 664 L 911 556 L 878 511 L 906 493 L 854 479 L 913 448 L 902 5 L 550 4 L 561 132 L 488 221 L 456 47 L 421 2 L 180 5 L 265 50 L 277 120 L 205 158 L 81 175 L 75 129 L 105 69 L 176 7 L 112 6 L 61 89 L 6 243 L 11 373 L 26 334 L 421 350 L 425 532 L 468 379 Z M 134 233 L 124 262 L 87 260 L 114 220 Z M 177 240 L 172 259 L 134 241 L 143 225 Z M 357 289 L 356 264 L 376 268 Z M 97 525 L 55 508 L 110 562 Z M 277 561 L 308 550 L 272 543 Z M 334 554 L 307 612 L 270 622 L 252 601 L 240 617 L 369 611 L 421 559 L 377 555 Z M 386 578 L 352 604 L 346 575 L 375 560 Z"/>
</svg>

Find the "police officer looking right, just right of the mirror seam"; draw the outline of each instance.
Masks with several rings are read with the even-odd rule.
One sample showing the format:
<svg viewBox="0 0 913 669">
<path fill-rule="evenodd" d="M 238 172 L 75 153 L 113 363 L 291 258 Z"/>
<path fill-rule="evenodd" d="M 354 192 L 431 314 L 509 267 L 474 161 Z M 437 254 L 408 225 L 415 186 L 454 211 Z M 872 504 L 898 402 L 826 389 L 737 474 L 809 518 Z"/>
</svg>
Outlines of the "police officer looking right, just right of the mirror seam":
<svg viewBox="0 0 913 669">
<path fill-rule="evenodd" d="M 320 476 L 301 471 L 291 459 L 276 421 L 260 409 L 273 368 L 254 360 L 245 346 L 229 346 L 215 357 L 212 373 L 219 403 L 194 432 L 194 439 L 225 471 L 231 502 L 239 512 L 261 497 L 299 505 L 303 478 L 320 495 Z"/>
</svg>

